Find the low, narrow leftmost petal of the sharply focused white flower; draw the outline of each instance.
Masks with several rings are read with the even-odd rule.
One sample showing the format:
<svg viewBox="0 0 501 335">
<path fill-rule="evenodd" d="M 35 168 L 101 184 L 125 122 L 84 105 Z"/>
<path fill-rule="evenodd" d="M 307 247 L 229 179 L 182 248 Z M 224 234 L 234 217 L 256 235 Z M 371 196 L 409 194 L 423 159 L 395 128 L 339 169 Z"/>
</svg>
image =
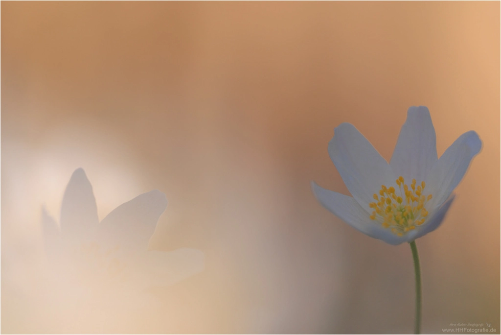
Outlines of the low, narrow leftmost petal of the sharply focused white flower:
<svg viewBox="0 0 501 335">
<path fill-rule="evenodd" d="M 352 197 L 326 190 L 315 182 L 312 182 L 312 189 L 322 206 L 356 230 L 392 245 L 405 242 L 404 237 L 393 234 L 390 230 L 381 227 L 379 222 L 371 220 L 369 213 Z"/>
</svg>

